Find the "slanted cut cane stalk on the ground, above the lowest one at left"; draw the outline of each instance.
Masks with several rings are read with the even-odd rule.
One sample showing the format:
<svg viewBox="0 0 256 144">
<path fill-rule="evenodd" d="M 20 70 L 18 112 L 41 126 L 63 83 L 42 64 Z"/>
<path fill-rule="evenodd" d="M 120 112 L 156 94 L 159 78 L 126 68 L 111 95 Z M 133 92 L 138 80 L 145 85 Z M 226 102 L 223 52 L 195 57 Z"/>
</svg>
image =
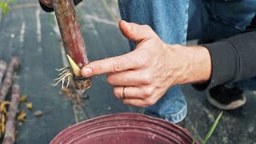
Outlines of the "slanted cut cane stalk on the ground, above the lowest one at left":
<svg viewBox="0 0 256 144">
<path fill-rule="evenodd" d="M 13 74 L 14 70 L 17 70 L 19 66 L 19 59 L 18 57 L 12 57 L 10 61 L 10 65 L 6 70 L 6 76 L 2 82 L 1 91 L 0 91 L 0 102 L 4 102 L 6 99 L 6 94 L 10 89 L 10 86 L 13 83 Z"/>
</svg>

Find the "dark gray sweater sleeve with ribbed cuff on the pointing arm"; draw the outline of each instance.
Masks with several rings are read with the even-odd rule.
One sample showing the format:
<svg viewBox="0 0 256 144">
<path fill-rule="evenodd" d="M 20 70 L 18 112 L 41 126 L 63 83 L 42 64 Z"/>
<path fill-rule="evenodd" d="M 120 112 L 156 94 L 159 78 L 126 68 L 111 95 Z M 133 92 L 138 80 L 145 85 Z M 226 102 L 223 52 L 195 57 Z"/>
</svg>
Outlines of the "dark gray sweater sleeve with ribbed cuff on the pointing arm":
<svg viewBox="0 0 256 144">
<path fill-rule="evenodd" d="M 256 14 L 244 33 L 203 46 L 210 52 L 212 74 L 209 82 L 193 85 L 195 89 L 256 76 Z"/>
</svg>

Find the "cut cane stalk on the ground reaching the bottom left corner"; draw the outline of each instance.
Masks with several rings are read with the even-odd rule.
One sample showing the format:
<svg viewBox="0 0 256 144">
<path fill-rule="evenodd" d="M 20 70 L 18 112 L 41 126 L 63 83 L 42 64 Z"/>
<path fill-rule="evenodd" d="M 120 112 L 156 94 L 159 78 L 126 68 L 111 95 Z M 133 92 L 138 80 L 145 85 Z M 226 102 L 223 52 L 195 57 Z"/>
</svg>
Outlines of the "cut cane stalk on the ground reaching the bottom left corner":
<svg viewBox="0 0 256 144">
<path fill-rule="evenodd" d="M 6 114 L 6 131 L 2 144 L 13 144 L 15 142 L 15 117 L 19 104 L 19 91 L 18 84 L 14 84 L 12 86 L 10 107 Z"/>
</svg>

